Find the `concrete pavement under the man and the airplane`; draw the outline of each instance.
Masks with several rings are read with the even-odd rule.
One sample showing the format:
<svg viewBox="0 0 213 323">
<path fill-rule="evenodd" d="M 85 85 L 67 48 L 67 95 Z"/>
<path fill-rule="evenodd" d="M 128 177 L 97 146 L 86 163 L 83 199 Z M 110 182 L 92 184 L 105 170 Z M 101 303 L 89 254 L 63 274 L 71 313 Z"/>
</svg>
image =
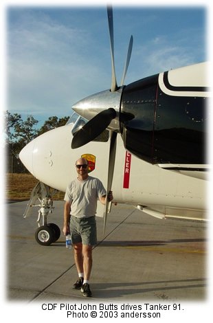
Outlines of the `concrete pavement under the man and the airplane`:
<svg viewBox="0 0 213 323">
<path fill-rule="evenodd" d="M 8 203 L 6 252 L 7 302 L 83 302 L 72 289 L 77 276 L 73 250 L 65 236 L 39 245 L 37 208 L 23 219 L 26 201 Z M 63 201 L 47 222 L 63 227 Z M 160 220 L 133 208 L 113 205 L 103 235 L 97 216 L 89 302 L 205 302 L 208 299 L 208 223 Z M 88 299 L 87 299 L 88 302 Z"/>
</svg>

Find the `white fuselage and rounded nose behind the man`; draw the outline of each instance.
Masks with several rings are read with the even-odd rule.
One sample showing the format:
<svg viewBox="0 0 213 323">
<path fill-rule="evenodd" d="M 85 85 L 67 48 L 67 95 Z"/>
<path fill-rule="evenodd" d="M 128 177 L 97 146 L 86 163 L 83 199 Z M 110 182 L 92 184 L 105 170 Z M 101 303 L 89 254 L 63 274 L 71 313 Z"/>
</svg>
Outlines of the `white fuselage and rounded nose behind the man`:
<svg viewBox="0 0 213 323">
<path fill-rule="evenodd" d="M 73 124 L 67 124 L 37 137 L 23 148 L 21 161 L 36 179 L 65 192 L 69 182 L 77 176 L 76 159 L 92 154 L 96 157 L 96 164 L 91 175 L 98 177 L 106 187 L 109 140 L 89 142 L 73 150 L 72 127 Z M 124 188 L 124 177 L 129 181 L 128 188 Z M 113 201 L 139 205 L 161 214 L 193 213 L 192 217 L 200 218 L 206 209 L 205 188 L 206 181 L 203 179 L 164 170 L 134 155 L 126 155 L 122 138 L 117 135 Z"/>
</svg>

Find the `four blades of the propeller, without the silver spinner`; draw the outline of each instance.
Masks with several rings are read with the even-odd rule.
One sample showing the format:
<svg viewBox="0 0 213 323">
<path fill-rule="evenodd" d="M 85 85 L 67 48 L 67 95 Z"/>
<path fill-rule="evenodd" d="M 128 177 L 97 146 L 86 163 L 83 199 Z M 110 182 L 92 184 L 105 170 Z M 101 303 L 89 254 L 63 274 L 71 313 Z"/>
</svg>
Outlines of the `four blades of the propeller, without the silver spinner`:
<svg viewBox="0 0 213 323">
<path fill-rule="evenodd" d="M 110 38 L 110 48 L 111 48 L 111 67 L 112 67 L 111 92 L 115 92 L 119 89 L 119 87 L 117 87 L 117 80 L 115 76 L 113 9 L 110 5 L 107 6 L 107 16 L 108 16 L 109 38 Z M 126 71 L 128 69 L 128 65 L 131 59 L 132 48 L 133 48 L 133 36 L 131 36 L 128 44 L 128 52 L 126 56 L 126 63 L 124 65 L 124 74 L 122 76 L 121 85 L 124 85 Z M 117 112 L 113 108 L 109 108 L 98 113 L 94 118 L 89 120 L 87 124 L 82 126 L 82 129 L 74 133 L 74 137 L 71 142 L 71 148 L 78 148 L 94 140 L 109 126 L 111 121 L 115 119 L 116 116 L 117 116 Z M 121 115 L 120 115 L 120 118 L 121 118 Z M 113 181 L 116 145 L 117 145 L 117 132 L 110 131 L 109 165 L 108 165 L 108 177 L 107 177 L 107 189 L 106 189 L 107 197 L 108 197 L 109 191 L 111 191 L 111 186 Z M 104 208 L 104 231 L 106 227 L 106 217 L 107 217 L 107 213 L 109 212 L 110 206 L 111 206 L 111 202 L 109 202 L 108 198 L 106 198 L 106 205 Z"/>
</svg>

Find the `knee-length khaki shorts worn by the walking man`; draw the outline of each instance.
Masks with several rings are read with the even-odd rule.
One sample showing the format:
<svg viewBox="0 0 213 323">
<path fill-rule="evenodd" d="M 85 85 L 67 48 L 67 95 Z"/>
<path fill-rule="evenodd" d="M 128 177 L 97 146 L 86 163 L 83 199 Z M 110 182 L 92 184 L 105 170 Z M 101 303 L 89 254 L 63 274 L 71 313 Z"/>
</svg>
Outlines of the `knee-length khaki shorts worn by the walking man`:
<svg viewBox="0 0 213 323">
<path fill-rule="evenodd" d="M 76 218 L 76 216 L 71 215 L 70 232 L 72 243 L 82 243 L 82 245 L 96 245 L 96 216 L 89 216 L 89 218 Z"/>
</svg>

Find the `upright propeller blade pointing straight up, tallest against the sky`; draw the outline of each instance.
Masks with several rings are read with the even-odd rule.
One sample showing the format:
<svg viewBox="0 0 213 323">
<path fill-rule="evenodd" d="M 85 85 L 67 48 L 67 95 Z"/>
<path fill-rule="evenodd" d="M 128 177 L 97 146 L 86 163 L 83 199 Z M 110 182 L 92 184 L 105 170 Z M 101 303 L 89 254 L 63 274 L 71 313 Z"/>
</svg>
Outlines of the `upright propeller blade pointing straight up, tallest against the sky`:
<svg viewBox="0 0 213 323">
<path fill-rule="evenodd" d="M 111 92 L 115 92 L 117 90 L 117 81 L 115 76 L 115 59 L 114 59 L 113 8 L 111 6 L 107 6 L 107 16 L 108 16 L 108 24 L 109 24 L 111 63 L 112 63 Z"/>
</svg>

